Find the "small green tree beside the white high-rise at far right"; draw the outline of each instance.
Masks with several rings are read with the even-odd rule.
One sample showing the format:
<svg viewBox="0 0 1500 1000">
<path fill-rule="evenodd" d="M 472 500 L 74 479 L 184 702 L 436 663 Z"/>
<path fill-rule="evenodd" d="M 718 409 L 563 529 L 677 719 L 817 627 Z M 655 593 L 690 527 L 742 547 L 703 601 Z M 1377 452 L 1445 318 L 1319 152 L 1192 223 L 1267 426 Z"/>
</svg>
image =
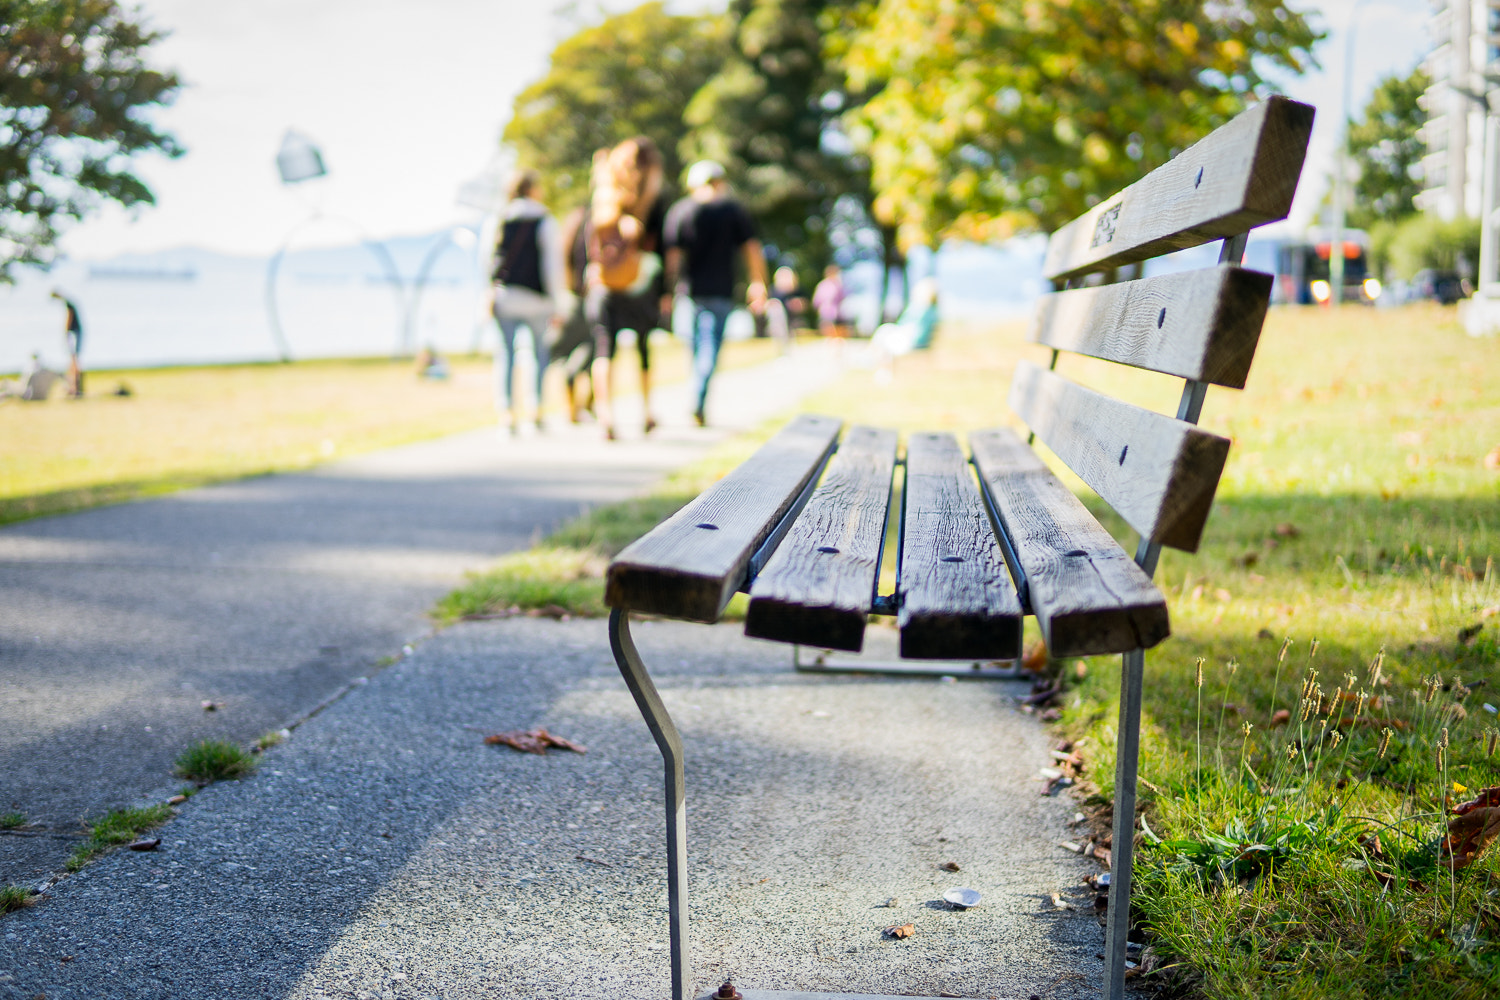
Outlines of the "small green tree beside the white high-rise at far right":
<svg viewBox="0 0 1500 1000">
<path fill-rule="evenodd" d="M 1420 69 L 1408 76 L 1386 76 L 1365 105 L 1365 114 L 1348 126 L 1348 154 L 1359 166 L 1350 225 L 1362 229 L 1377 220 L 1398 222 L 1416 211 L 1413 198 L 1422 190 L 1422 126 L 1426 111 L 1419 100 L 1431 85 Z"/>
</svg>

